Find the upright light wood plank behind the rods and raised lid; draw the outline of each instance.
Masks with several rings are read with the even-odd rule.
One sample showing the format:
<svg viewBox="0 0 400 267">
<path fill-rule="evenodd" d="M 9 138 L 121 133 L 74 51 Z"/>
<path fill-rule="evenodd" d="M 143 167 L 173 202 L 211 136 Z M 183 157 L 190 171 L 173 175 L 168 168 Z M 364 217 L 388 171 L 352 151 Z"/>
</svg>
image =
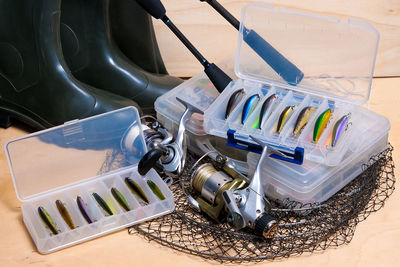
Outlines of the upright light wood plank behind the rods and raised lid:
<svg viewBox="0 0 400 267">
<path fill-rule="evenodd" d="M 237 18 L 241 8 L 254 1 L 219 0 Z M 380 32 L 375 76 L 400 76 L 400 1 L 398 0 L 272 0 L 277 5 L 334 17 L 369 21 Z M 163 1 L 167 14 L 211 62 L 236 51 L 237 32 L 208 4 L 198 0 Z M 201 65 L 161 22 L 154 21 L 164 62 L 172 75 L 190 77 Z"/>
</svg>

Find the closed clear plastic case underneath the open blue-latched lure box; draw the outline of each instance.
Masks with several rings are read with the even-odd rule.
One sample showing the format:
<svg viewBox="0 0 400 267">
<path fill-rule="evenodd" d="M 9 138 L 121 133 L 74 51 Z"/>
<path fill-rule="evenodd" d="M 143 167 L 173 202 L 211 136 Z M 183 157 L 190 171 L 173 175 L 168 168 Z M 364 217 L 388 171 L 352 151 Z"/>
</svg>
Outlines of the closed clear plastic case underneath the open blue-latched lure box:
<svg viewBox="0 0 400 267">
<path fill-rule="evenodd" d="M 224 71 L 231 74 L 234 78 L 233 65 L 234 60 L 230 58 L 221 65 Z M 159 97 L 155 103 L 158 120 L 169 131 L 176 131 L 180 115 L 183 113 L 183 106 L 175 100 L 176 96 L 184 97 L 189 101 L 199 99 L 203 95 L 208 95 L 212 99 L 216 98 L 216 89 L 209 83 L 206 76 L 201 73 L 179 85 L 167 94 Z M 207 110 L 212 101 L 195 101 L 202 110 Z M 262 184 L 264 192 L 272 199 L 284 202 L 286 199 L 296 200 L 301 203 L 314 203 L 327 200 L 347 183 L 352 181 L 363 171 L 363 164 L 369 162 L 369 159 L 388 146 L 388 132 L 390 130 L 389 121 L 379 114 L 368 109 L 357 107 L 362 114 L 361 124 L 359 128 L 361 134 L 354 143 L 347 146 L 347 152 L 343 156 L 342 163 L 337 166 L 328 166 L 323 163 L 317 163 L 305 160 L 302 165 L 289 164 L 287 162 L 268 158 L 265 160 L 262 170 Z M 370 121 L 376 121 L 375 127 L 369 125 Z M 208 135 L 202 128 L 203 120 L 201 116 L 196 115 L 190 121 L 187 132 L 190 135 L 189 149 L 192 152 L 198 152 L 198 143 L 207 143 L 211 140 L 215 141 L 216 137 Z M 226 151 L 223 143 L 226 140 L 219 140 L 221 152 Z M 194 150 L 194 151 L 193 151 Z M 204 152 L 203 152 L 204 153 Z M 244 153 L 244 151 L 243 151 Z M 259 154 L 248 153 L 247 163 L 249 172 L 252 173 L 258 162 Z"/>
</svg>

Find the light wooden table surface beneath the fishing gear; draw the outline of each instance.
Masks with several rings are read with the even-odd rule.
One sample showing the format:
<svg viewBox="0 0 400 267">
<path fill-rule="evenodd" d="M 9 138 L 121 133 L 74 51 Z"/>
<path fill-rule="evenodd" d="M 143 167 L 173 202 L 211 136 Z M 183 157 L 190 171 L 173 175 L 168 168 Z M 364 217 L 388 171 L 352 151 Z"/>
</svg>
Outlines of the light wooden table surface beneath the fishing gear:
<svg viewBox="0 0 400 267">
<path fill-rule="evenodd" d="M 394 146 L 395 164 L 400 157 L 400 78 L 374 79 L 370 99 L 372 110 L 389 118 L 389 141 Z M 17 127 L 0 129 L 0 143 L 22 136 L 27 130 Z M 395 170 L 399 177 L 399 169 Z M 218 265 L 199 257 L 177 252 L 141 236 L 122 230 L 49 255 L 40 255 L 22 222 L 21 205 L 16 198 L 7 160 L 0 153 L 0 266 L 200 266 Z M 361 222 L 349 245 L 323 252 L 266 261 L 258 266 L 399 266 L 400 192 L 387 200 L 383 209 Z"/>
</svg>

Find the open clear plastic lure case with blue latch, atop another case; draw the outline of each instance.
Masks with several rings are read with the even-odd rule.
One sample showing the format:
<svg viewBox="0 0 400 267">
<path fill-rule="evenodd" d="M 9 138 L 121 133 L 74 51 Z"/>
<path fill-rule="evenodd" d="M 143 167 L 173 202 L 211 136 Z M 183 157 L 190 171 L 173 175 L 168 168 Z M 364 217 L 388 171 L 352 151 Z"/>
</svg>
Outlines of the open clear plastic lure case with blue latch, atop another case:
<svg viewBox="0 0 400 267">
<path fill-rule="evenodd" d="M 257 32 L 303 71 L 304 78 L 297 86 L 287 84 L 243 41 L 249 30 Z M 369 119 L 371 129 L 381 127 L 384 120 L 381 116 L 366 118 L 366 109 L 360 108 L 369 99 L 378 40 L 379 33 L 362 20 L 340 21 L 275 8 L 264 2 L 246 6 L 242 11 L 235 60 L 235 73 L 239 80 L 231 83 L 205 111 L 204 130 L 227 138 L 228 144 L 244 149 L 254 147 L 255 143 L 249 137 L 253 135 L 283 152 L 296 155 L 304 151 L 306 160 L 337 166 L 348 146 L 361 145 L 358 137 L 370 133 L 363 128 L 364 119 Z M 225 119 L 228 101 L 239 89 L 244 89 L 245 96 Z M 258 94 L 260 101 L 242 124 L 240 118 L 244 104 L 253 94 Z M 262 129 L 258 129 L 254 124 L 259 119 L 261 106 L 272 94 L 276 94 L 277 99 L 269 116 L 264 116 Z M 288 106 L 294 106 L 294 111 L 282 131 L 277 133 L 280 114 Z M 294 136 L 296 119 L 305 107 L 314 107 L 315 111 L 305 128 Z M 328 108 L 332 117 L 315 143 L 314 125 Z M 338 143 L 331 146 L 334 125 L 344 115 L 350 115 L 349 123 Z M 353 151 L 358 149 L 356 147 Z"/>
</svg>

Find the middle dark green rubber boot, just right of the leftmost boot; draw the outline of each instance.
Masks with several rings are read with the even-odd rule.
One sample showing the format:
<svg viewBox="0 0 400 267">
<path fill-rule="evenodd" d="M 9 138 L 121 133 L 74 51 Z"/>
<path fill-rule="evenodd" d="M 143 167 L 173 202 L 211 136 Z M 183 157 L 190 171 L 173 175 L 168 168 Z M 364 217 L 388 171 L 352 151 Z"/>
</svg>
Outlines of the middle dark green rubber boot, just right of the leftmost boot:
<svg viewBox="0 0 400 267">
<path fill-rule="evenodd" d="M 154 114 L 156 98 L 182 81 L 144 71 L 124 56 L 111 36 L 109 7 L 109 0 L 62 1 L 61 42 L 66 62 L 78 80 L 130 98 L 145 114 Z"/>
</svg>

